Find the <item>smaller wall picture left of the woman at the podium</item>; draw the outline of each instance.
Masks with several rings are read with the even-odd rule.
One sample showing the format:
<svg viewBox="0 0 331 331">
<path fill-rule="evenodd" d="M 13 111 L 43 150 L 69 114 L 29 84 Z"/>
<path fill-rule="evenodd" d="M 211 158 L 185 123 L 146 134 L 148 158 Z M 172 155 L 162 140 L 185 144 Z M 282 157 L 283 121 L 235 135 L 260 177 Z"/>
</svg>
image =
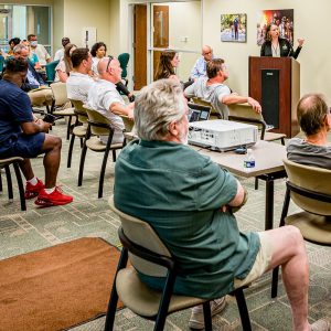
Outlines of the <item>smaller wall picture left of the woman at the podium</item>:
<svg viewBox="0 0 331 331">
<path fill-rule="evenodd" d="M 246 14 L 221 14 L 221 41 L 246 42 Z"/>
</svg>

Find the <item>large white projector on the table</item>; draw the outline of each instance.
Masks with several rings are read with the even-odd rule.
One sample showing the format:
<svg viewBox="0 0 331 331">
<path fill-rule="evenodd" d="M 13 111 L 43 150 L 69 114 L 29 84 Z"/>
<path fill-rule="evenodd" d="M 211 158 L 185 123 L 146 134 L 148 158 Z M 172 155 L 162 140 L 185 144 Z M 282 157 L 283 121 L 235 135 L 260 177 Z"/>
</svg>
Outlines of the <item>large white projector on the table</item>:
<svg viewBox="0 0 331 331">
<path fill-rule="evenodd" d="M 253 146 L 258 137 L 256 126 L 215 119 L 190 122 L 189 142 L 214 150 L 233 150 Z"/>
</svg>

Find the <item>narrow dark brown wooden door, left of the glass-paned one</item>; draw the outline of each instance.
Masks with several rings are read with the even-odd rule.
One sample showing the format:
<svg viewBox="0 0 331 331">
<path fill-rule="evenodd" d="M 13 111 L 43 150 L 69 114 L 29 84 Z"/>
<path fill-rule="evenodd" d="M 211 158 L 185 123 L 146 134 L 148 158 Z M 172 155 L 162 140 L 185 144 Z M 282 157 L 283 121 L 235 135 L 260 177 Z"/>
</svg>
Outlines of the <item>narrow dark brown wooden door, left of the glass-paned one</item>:
<svg viewBox="0 0 331 331">
<path fill-rule="evenodd" d="M 135 4 L 134 8 L 134 89 L 147 85 L 147 6 Z"/>
</svg>

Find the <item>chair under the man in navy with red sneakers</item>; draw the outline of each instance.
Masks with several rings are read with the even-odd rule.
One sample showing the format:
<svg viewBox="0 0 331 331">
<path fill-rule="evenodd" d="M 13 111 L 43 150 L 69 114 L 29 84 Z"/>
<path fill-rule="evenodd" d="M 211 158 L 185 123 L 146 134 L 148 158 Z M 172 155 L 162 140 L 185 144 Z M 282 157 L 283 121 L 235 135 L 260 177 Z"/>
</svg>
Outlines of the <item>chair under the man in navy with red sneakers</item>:
<svg viewBox="0 0 331 331">
<path fill-rule="evenodd" d="M 12 180 L 11 180 L 11 173 L 10 173 L 10 166 L 11 164 L 13 166 L 13 169 L 14 169 L 14 172 L 17 175 L 18 186 L 19 186 L 21 211 L 26 211 L 26 203 L 25 203 L 25 197 L 24 197 L 24 186 L 23 186 L 20 166 L 19 166 L 19 163 L 22 161 L 23 161 L 23 159 L 20 157 L 0 159 L 0 169 L 4 169 L 4 171 L 6 171 L 8 197 L 9 197 L 9 200 L 13 200 Z M 2 180 L 1 180 L 1 173 L 0 173 L 0 192 L 1 191 L 2 191 Z"/>
</svg>

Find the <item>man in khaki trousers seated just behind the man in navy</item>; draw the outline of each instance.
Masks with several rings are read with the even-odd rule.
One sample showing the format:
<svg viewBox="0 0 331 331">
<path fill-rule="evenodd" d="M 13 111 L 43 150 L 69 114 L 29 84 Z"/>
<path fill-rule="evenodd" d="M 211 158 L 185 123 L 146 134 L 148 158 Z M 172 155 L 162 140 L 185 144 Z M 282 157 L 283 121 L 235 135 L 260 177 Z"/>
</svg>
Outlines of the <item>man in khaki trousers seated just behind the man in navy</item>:
<svg viewBox="0 0 331 331">
<path fill-rule="evenodd" d="M 28 60 L 29 49 L 22 44 L 14 47 L 14 57 L 23 57 Z M 45 85 L 45 82 L 34 70 L 30 61 L 28 61 L 28 75 L 25 76 L 21 88 L 28 92 L 32 106 L 51 106 L 53 100 L 52 89 Z"/>
</svg>

